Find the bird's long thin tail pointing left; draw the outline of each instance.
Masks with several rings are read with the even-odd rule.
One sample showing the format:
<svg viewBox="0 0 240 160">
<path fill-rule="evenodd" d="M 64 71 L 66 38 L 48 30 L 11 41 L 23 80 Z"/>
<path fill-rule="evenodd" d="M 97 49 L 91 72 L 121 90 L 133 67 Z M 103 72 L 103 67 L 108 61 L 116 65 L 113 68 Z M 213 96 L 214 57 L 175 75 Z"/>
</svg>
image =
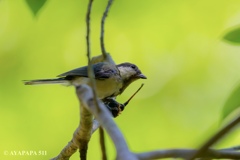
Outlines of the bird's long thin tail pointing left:
<svg viewBox="0 0 240 160">
<path fill-rule="evenodd" d="M 36 80 L 24 80 L 25 85 L 37 85 L 37 84 L 66 84 L 69 82 L 63 78 L 55 78 L 55 79 L 36 79 Z"/>
</svg>

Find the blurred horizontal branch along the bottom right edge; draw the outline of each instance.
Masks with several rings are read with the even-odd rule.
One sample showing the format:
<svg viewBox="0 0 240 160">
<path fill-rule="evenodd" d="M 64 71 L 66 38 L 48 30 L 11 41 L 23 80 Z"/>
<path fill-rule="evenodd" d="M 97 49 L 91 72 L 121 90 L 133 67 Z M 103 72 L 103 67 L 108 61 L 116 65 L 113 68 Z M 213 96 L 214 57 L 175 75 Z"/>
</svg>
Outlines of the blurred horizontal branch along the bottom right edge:
<svg viewBox="0 0 240 160">
<path fill-rule="evenodd" d="M 160 158 L 183 158 L 187 159 L 196 154 L 197 150 L 194 149 L 169 149 L 169 150 L 156 150 L 145 153 L 137 153 L 139 160 L 160 159 Z M 240 152 L 213 150 L 208 149 L 201 156 L 196 158 L 209 158 L 209 159 L 239 159 Z"/>
</svg>

